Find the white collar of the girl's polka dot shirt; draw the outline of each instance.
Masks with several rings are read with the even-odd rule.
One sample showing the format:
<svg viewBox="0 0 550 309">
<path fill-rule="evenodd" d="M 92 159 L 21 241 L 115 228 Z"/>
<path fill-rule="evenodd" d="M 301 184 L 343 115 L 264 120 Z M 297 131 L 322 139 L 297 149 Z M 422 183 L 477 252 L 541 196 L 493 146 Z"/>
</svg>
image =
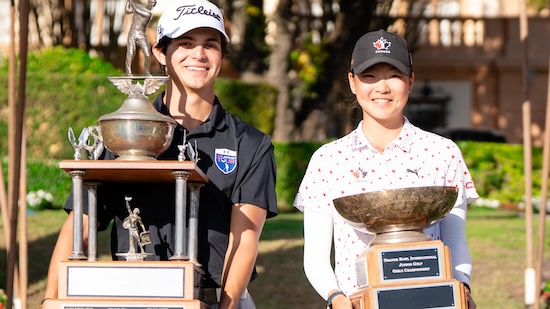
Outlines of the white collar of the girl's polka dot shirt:
<svg viewBox="0 0 550 309">
<path fill-rule="evenodd" d="M 353 130 L 353 132 L 350 134 L 351 148 L 354 150 L 368 148 L 376 151 L 374 146 L 372 146 L 372 144 L 365 136 L 365 133 L 363 133 L 362 124 L 363 121 L 361 120 L 361 122 L 359 122 L 359 125 L 357 125 L 355 130 Z M 416 134 L 416 130 L 416 127 L 409 122 L 407 117 L 403 116 L 403 128 L 401 129 L 401 132 L 399 133 L 397 138 L 393 140 L 388 145 L 388 147 L 397 147 L 402 149 L 404 152 L 409 152 L 413 143 L 412 137 L 414 136 L 414 134 Z"/>
</svg>

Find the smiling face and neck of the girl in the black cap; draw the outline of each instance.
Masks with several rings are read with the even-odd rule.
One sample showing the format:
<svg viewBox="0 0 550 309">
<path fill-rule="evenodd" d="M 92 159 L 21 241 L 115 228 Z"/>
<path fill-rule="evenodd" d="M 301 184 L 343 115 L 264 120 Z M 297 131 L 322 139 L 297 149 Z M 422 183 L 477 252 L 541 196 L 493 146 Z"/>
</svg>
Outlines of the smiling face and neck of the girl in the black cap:
<svg viewBox="0 0 550 309">
<path fill-rule="evenodd" d="M 363 111 L 363 120 L 403 121 L 403 109 L 413 87 L 414 74 L 407 76 L 387 63 L 379 63 L 360 74 L 348 73 L 348 79 L 351 92 Z"/>
</svg>

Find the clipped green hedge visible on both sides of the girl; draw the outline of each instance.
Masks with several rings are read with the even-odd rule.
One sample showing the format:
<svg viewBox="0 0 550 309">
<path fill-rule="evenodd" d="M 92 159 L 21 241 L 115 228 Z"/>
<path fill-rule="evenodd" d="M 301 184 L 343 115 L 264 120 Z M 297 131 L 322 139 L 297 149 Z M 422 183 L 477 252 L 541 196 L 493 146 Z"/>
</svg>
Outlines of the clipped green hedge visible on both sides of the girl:
<svg viewBox="0 0 550 309">
<path fill-rule="evenodd" d="M 277 195 L 283 211 L 292 202 L 311 154 L 318 143 L 275 145 Z M 458 142 L 481 197 L 501 203 L 519 203 L 525 192 L 523 146 L 503 143 Z M 540 196 L 542 149 L 533 149 L 533 195 Z"/>
</svg>

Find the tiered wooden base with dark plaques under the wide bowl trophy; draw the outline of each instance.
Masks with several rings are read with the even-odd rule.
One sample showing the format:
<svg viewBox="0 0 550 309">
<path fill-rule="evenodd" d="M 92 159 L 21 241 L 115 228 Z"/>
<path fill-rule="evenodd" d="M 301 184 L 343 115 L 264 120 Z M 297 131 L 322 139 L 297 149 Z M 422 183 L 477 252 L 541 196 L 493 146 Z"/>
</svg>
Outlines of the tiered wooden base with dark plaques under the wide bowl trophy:
<svg viewBox="0 0 550 309">
<path fill-rule="evenodd" d="M 374 245 L 357 258 L 356 271 L 354 309 L 468 308 L 449 248 L 439 240 Z"/>
</svg>

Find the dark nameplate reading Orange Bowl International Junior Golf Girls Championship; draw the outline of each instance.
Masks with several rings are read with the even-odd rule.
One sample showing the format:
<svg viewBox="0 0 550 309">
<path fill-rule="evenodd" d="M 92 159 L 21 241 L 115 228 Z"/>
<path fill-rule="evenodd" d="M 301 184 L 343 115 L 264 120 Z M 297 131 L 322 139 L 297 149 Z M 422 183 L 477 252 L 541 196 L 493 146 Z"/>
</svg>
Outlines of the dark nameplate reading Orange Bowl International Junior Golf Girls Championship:
<svg viewBox="0 0 550 309">
<path fill-rule="evenodd" d="M 442 278 L 439 247 L 388 249 L 379 252 L 381 282 Z"/>
</svg>

